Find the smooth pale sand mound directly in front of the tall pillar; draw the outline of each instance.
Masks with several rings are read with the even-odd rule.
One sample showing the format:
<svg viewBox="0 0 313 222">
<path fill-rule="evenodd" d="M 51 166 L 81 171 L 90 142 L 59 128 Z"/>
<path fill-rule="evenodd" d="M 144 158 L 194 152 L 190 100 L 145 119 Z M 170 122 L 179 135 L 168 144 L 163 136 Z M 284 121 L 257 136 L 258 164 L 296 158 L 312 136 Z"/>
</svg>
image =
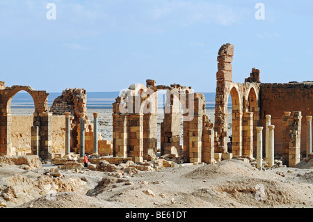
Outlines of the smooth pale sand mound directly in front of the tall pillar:
<svg viewBox="0 0 313 222">
<path fill-rule="evenodd" d="M 206 165 L 197 168 L 195 171 L 183 175 L 192 179 L 210 179 L 215 177 L 236 176 L 236 177 L 258 177 L 259 170 L 246 164 L 243 161 L 232 159 L 227 161 L 220 161 L 213 165 Z"/>
</svg>

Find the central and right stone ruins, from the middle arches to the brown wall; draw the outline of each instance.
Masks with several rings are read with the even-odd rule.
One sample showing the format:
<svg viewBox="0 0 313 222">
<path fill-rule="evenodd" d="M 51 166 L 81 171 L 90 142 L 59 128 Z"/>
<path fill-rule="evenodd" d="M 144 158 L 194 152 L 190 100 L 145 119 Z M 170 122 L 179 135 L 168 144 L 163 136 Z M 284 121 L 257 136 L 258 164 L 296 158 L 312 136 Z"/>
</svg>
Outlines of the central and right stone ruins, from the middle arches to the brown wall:
<svg viewBox="0 0 313 222">
<path fill-rule="evenodd" d="M 258 144 L 261 147 L 264 144 L 262 154 L 265 154 L 266 161 L 272 162 L 274 154 L 282 154 L 284 164 L 296 166 L 301 151 L 312 152 L 312 120 L 305 121 L 302 116 L 307 116 L 307 119 L 312 116 L 313 82 L 262 84 L 260 71 L 252 68 L 250 77 L 243 84 L 234 83 L 233 56 L 233 45 L 228 43 L 220 47 L 214 123 L 205 113 L 204 96 L 194 93 L 191 87 L 177 84 L 157 86 L 150 79 L 146 86 L 129 86 L 113 103 L 113 154 L 132 157 L 134 161 L 156 156 L 157 90 L 165 89 L 168 92 L 161 123 L 161 155 L 180 155 L 185 162 L 210 164 L 214 159 L 253 158 L 257 154 Z M 230 95 L 231 136 L 227 135 Z M 183 148 L 179 143 L 181 114 L 188 116 L 183 120 Z M 307 127 L 301 129 L 301 125 Z M 257 136 L 258 131 L 262 136 Z M 230 142 L 227 141 L 228 136 L 231 137 Z M 262 139 L 262 143 L 258 143 L 257 138 Z"/>
</svg>

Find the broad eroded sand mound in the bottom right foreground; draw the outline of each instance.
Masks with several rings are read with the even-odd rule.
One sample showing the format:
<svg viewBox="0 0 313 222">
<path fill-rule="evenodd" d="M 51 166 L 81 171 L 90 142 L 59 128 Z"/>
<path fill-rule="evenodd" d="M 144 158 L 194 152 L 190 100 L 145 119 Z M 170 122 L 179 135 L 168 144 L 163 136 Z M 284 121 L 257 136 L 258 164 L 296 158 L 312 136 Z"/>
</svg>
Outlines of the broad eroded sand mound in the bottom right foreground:
<svg viewBox="0 0 313 222">
<path fill-rule="evenodd" d="M 304 187 L 300 190 L 292 184 L 264 179 L 234 180 L 228 184 L 199 189 L 192 194 L 207 203 L 214 203 L 223 207 L 285 207 L 292 205 L 312 205 L 312 201 L 304 203 L 306 192 L 312 188 Z"/>
</svg>

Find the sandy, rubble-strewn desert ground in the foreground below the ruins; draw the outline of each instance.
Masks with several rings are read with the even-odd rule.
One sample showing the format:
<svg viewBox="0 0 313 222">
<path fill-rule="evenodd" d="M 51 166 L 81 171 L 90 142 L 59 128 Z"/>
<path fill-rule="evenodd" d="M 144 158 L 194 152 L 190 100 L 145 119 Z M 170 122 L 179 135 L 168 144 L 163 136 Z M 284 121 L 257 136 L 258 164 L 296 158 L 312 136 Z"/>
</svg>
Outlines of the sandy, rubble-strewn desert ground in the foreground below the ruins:
<svg viewBox="0 0 313 222">
<path fill-rule="evenodd" d="M 313 207 L 312 169 L 259 171 L 232 159 L 117 178 L 88 169 L 61 170 L 61 177 L 45 175 L 51 167 L 56 168 L 2 165 L 0 191 L 14 197 L 0 198 L 0 204 L 17 208 Z"/>
</svg>

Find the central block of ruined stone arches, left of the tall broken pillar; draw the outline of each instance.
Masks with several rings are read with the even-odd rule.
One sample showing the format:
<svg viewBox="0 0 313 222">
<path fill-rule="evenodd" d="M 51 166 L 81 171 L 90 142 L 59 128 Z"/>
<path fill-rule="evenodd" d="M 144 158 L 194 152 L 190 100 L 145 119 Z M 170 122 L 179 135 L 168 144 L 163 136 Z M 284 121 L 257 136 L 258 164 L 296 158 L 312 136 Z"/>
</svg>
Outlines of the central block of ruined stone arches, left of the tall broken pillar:
<svg viewBox="0 0 313 222">
<path fill-rule="evenodd" d="M 185 161 L 214 161 L 214 132 L 205 113 L 205 100 L 191 87 L 178 84 L 134 84 L 113 103 L 113 155 L 134 161 L 157 157 L 157 92 L 167 90 L 161 122 L 161 155 L 174 154 Z M 182 118 L 182 119 L 181 119 Z M 183 122 L 183 148 L 180 123 Z M 205 152 L 206 154 L 202 154 Z M 210 154 L 207 154 L 210 153 Z"/>
</svg>

